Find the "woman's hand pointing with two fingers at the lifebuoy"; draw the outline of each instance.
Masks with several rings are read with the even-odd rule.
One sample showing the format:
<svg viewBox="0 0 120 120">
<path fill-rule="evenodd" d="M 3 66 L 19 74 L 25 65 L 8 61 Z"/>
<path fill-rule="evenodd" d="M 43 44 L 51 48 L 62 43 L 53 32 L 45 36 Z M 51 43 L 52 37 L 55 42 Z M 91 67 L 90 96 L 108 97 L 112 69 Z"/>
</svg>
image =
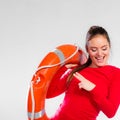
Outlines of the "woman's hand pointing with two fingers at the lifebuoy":
<svg viewBox="0 0 120 120">
<path fill-rule="evenodd" d="M 85 89 L 87 91 L 91 91 L 96 86 L 94 83 L 92 83 L 89 80 L 87 80 L 86 78 L 84 78 L 78 72 L 74 73 L 73 76 L 76 77 L 80 81 L 80 83 L 78 84 L 80 89 L 83 88 L 83 89 Z"/>
</svg>

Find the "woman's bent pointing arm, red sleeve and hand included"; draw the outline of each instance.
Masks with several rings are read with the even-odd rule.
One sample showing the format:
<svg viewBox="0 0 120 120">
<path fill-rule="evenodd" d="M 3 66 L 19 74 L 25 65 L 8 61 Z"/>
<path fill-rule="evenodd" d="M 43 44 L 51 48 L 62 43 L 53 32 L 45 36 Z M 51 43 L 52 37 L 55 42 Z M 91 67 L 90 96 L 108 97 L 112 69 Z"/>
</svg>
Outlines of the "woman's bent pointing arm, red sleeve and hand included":
<svg viewBox="0 0 120 120">
<path fill-rule="evenodd" d="M 80 80 L 79 88 L 85 89 L 91 94 L 92 100 L 107 117 L 113 117 L 120 104 L 120 72 L 114 76 L 108 96 L 103 94 L 102 86 L 95 85 L 79 73 L 74 74 L 74 76 Z"/>
</svg>

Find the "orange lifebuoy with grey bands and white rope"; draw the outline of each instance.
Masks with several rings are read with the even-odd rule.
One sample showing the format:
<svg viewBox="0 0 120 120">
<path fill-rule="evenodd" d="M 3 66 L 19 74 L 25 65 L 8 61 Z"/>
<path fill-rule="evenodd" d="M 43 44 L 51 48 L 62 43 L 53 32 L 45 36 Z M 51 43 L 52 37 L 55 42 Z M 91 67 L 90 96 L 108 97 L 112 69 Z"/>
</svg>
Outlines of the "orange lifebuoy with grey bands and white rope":
<svg viewBox="0 0 120 120">
<path fill-rule="evenodd" d="M 64 44 L 49 52 L 38 66 L 28 93 L 28 120 L 49 120 L 45 112 L 45 99 L 49 84 L 58 69 L 68 63 L 85 62 L 84 52 L 75 45 Z"/>
</svg>

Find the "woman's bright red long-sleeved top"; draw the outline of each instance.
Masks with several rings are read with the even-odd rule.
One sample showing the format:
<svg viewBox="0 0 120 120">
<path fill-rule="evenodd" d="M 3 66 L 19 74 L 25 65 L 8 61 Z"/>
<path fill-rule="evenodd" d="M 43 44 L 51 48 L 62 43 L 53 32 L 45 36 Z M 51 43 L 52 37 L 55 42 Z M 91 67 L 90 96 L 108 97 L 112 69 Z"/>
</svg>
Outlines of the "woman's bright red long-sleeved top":
<svg viewBox="0 0 120 120">
<path fill-rule="evenodd" d="M 79 80 L 75 77 L 66 88 L 70 72 L 70 69 L 62 67 L 48 89 L 47 97 L 65 91 L 64 100 L 51 120 L 96 120 L 100 111 L 109 118 L 113 117 L 120 103 L 120 69 L 107 65 L 100 68 L 87 67 L 80 71 L 81 75 L 96 84 L 92 91 L 79 89 Z"/>
</svg>

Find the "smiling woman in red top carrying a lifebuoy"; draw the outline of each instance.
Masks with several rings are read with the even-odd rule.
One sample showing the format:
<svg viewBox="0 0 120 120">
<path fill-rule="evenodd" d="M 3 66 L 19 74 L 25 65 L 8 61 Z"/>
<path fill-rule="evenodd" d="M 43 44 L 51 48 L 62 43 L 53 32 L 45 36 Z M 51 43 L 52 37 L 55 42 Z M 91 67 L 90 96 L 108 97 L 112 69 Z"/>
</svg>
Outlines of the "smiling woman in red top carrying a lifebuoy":
<svg viewBox="0 0 120 120">
<path fill-rule="evenodd" d="M 100 111 L 108 118 L 115 115 L 120 103 L 120 69 L 108 65 L 110 48 L 107 31 L 100 26 L 90 27 L 87 62 L 77 67 L 65 65 L 54 76 L 53 81 L 60 80 L 49 91 L 65 91 L 65 97 L 51 120 L 96 120 Z"/>
</svg>

